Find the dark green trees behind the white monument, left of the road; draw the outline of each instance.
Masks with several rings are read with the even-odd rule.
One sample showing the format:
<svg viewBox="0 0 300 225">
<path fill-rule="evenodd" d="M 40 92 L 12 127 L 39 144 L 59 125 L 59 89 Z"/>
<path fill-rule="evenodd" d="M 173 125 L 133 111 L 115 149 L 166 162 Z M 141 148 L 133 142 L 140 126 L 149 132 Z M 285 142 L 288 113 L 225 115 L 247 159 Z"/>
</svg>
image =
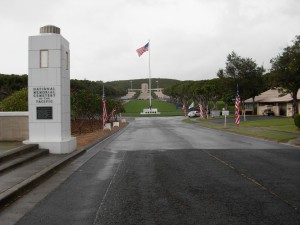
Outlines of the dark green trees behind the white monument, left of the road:
<svg viewBox="0 0 300 225">
<path fill-rule="evenodd" d="M 0 111 L 28 111 L 27 75 L 0 75 L 3 99 Z M 124 94 L 117 88 L 102 81 L 71 80 L 71 117 L 78 123 L 79 132 L 83 123 L 102 119 L 103 88 L 108 114 L 115 109 L 116 114 L 124 112 L 118 98 Z M 99 125 L 102 123 L 98 123 Z"/>
</svg>

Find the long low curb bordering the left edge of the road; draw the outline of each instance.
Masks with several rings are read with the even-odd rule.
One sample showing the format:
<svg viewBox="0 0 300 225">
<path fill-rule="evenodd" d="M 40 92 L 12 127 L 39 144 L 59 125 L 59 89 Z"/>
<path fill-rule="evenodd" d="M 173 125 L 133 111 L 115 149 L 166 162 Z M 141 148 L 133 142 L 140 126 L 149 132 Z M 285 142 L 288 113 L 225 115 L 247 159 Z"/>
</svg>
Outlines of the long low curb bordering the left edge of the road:
<svg viewBox="0 0 300 225">
<path fill-rule="evenodd" d="M 75 151 L 69 153 L 66 157 L 64 157 L 64 158 L 58 160 L 57 162 L 51 164 L 50 166 L 42 169 L 38 173 L 35 173 L 34 175 L 27 178 L 26 180 L 23 180 L 21 183 L 2 192 L 0 194 L 0 205 L 2 206 L 2 207 L 0 207 L 0 210 L 1 210 L 1 208 L 5 208 L 6 206 L 10 205 L 17 199 L 21 198 L 24 193 L 30 191 L 29 190 L 30 188 L 34 188 L 34 187 L 38 186 L 47 177 L 54 175 L 60 168 L 65 166 L 70 161 L 76 159 L 80 155 L 84 154 L 88 149 L 92 148 L 99 142 L 102 142 L 102 141 L 110 138 L 111 136 L 119 133 L 126 127 L 127 127 L 127 124 L 125 126 L 123 126 L 121 129 L 117 130 L 116 132 L 114 132 L 106 137 L 100 138 L 100 139 L 92 142 L 91 144 L 86 145 L 83 148 L 76 149 Z"/>
</svg>

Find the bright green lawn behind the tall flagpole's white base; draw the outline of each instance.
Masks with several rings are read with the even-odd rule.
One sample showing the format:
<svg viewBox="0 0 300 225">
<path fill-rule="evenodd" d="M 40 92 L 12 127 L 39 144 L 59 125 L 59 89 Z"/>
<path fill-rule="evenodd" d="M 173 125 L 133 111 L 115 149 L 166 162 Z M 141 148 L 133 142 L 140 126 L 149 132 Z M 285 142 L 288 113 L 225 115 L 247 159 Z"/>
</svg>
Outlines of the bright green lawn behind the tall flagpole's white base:
<svg viewBox="0 0 300 225">
<path fill-rule="evenodd" d="M 152 108 L 157 108 L 160 114 L 149 114 L 149 115 L 141 115 L 143 109 L 149 108 L 149 100 L 130 100 L 126 104 L 124 104 L 125 113 L 123 116 L 182 116 L 181 108 L 176 110 L 176 105 L 162 102 L 158 100 L 152 100 Z"/>
</svg>

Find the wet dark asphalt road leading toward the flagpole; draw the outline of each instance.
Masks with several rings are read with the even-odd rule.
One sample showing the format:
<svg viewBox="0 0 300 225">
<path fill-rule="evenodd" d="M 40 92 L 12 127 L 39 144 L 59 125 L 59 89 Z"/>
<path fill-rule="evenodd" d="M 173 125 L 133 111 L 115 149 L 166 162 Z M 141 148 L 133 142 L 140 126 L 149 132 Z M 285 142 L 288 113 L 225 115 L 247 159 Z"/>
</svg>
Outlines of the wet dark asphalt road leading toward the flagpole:
<svg viewBox="0 0 300 225">
<path fill-rule="evenodd" d="M 181 119 L 131 121 L 17 224 L 300 224 L 299 148 Z"/>
</svg>

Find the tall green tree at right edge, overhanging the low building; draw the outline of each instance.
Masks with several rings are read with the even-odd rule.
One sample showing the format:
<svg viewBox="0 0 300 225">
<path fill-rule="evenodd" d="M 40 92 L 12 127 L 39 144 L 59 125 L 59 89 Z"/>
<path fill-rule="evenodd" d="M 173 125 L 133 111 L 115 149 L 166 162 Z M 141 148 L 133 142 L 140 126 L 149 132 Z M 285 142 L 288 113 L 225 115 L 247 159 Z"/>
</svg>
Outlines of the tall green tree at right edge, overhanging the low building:
<svg viewBox="0 0 300 225">
<path fill-rule="evenodd" d="M 293 98 L 293 117 L 298 114 L 297 93 L 300 88 L 300 36 L 293 45 L 284 48 L 276 58 L 271 59 L 271 73 L 274 84 L 285 89 Z"/>
</svg>

